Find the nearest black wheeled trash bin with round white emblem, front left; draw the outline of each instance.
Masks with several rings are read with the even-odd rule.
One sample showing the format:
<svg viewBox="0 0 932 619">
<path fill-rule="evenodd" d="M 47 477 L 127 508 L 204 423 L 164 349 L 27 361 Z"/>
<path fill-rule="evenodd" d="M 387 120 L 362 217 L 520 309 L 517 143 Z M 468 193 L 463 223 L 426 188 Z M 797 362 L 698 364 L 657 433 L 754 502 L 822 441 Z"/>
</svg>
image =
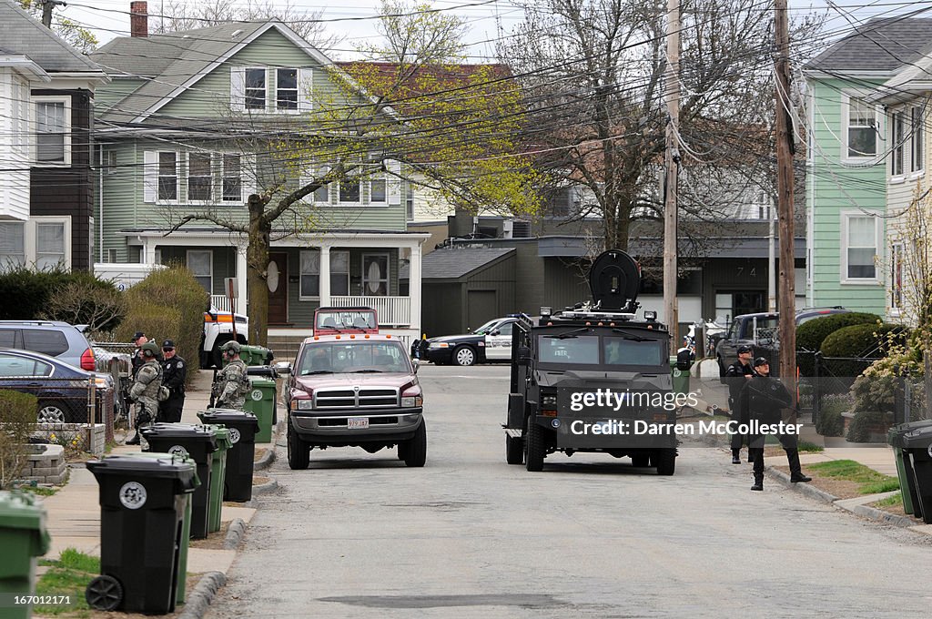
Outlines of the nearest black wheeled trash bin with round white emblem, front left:
<svg viewBox="0 0 932 619">
<path fill-rule="evenodd" d="M 101 575 L 88 585 L 89 604 L 104 611 L 174 611 L 186 494 L 198 486 L 194 464 L 104 456 L 89 461 L 101 503 Z"/>
</svg>

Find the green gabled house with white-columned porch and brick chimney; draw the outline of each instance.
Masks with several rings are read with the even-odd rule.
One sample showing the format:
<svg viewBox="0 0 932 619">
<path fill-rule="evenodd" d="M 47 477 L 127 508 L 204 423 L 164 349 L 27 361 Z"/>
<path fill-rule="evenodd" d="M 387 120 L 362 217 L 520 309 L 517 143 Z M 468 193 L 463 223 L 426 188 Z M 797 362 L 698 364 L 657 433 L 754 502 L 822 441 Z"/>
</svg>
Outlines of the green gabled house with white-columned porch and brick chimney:
<svg viewBox="0 0 932 619">
<path fill-rule="evenodd" d="M 185 264 L 219 310 L 235 277 L 244 311 L 249 196 L 296 184 L 307 173 L 296 160 L 329 169 L 273 155 L 286 150 L 281 135 L 314 131 L 318 102 L 341 92 L 340 69 L 280 21 L 150 36 L 144 4 L 133 3 L 131 36 L 92 54 L 113 77 L 97 107 L 99 261 Z M 275 221 L 263 269 L 270 338 L 307 336 L 321 306 L 370 306 L 389 333 L 420 333 L 428 235 L 407 230 L 400 164 L 375 166 L 321 186 Z M 179 225 L 192 213 L 199 218 Z M 402 267 L 413 274 L 405 294 Z"/>
</svg>

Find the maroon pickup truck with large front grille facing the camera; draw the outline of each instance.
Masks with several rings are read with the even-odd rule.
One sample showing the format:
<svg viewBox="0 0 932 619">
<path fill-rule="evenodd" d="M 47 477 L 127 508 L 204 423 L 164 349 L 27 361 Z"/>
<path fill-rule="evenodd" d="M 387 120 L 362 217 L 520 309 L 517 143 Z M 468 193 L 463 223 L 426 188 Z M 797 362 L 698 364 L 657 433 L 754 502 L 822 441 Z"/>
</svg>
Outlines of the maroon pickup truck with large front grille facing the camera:
<svg viewBox="0 0 932 619">
<path fill-rule="evenodd" d="M 301 343 L 290 376 L 288 464 L 308 467 L 310 450 L 398 446 L 398 459 L 424 466 L 427 428 L 417 362 L 388 335 L 322 335 Z"/>
</svg>

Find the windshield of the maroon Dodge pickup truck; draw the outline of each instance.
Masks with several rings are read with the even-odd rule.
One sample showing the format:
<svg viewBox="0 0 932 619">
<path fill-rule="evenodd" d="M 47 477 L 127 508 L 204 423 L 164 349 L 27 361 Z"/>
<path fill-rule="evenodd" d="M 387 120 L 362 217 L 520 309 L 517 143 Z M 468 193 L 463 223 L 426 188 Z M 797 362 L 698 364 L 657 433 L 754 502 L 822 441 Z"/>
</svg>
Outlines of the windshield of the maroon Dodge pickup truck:
<svg viewBox="0 0 932 619">
<path fill-rule="evenodd" d="M 298 364 L 298 376 L 411 372 L 398 342 L 334 342 L 308 346 Z"/>
</svg>

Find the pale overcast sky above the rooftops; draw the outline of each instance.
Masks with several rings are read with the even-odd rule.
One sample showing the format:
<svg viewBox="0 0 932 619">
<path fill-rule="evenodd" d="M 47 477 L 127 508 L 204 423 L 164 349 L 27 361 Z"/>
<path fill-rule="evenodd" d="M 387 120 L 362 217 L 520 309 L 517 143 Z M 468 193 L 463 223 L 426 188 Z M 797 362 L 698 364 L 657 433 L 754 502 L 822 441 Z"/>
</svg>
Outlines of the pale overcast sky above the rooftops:
<svg viewBox="0 0 932 619">
<path fill-rule="evenodd" d="M 190 0 L 196 2 L 197 0 Z M 243 3 L 247 0 L 230 0 Z M 427 0 L 421 0 L 427 1 Z M 764 0 L 767 1 L 767 0 Z M 273 0 L 275 4 L 284 4 L 284 0 Z M 809 12 L 829 13 L 828 30 L 831 33 L 843 33 L 851 29 L 852 24 L 867 21 L 878 15 L 895 15 L 914 10 L 929 3 L 905 2 L 903 0 L 788 0 L 790 15 L 802 16 Z M 494 39 L 497 36 L 497 23 L 506 27 L 516 24 L 521 11 L 510 0 L 433 0 L 432 6 L 449 10 L 464 18 L 469 25 L 467 43 L 473 62 L 494 59 Z M 834 7 L 829 7 L 833 4 Z M 347 60 L 355 56 L 354 44 L 377 42 L 375 28 L 379 0 L 339 0 L 338 3 L 325 3 L 323 0 L 291 0 L 291 5 L 298 11 L 314 12 L 322 10 L 322 18 L 328 21 L 327 29 L 344 38 L 343 43 L 333 50 L 335 59 Z M 335 6 L 336 5 L 336 6 Z M 149 0 L 149 11 L 159 13 L 162 0 Z M 69 0 L 67 7 L 56 9 L 62 15 L 89 27 L 101 44 L 117 37 L 126 36 L 130 29 L 130 0 Z M 929 14 L 932 14 L 930 11 Z"/>
</svg>

